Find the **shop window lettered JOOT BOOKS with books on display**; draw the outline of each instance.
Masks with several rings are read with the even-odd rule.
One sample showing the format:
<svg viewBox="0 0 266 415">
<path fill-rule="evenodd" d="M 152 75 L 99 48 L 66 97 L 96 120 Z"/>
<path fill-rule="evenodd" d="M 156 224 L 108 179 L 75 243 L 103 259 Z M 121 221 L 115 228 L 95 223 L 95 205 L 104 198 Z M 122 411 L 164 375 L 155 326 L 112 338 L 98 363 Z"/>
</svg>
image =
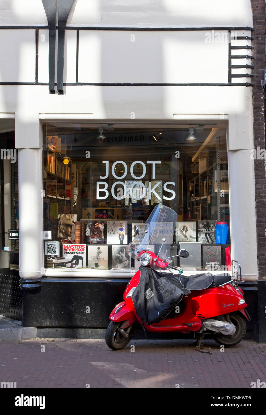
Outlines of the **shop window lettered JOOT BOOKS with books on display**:
<svg viewBox="0 0 266 415">
<path fill-rule="evenodd" d="M 45 267 L 128 270 L 126 246 L 155 205 L 177 213 L 171 253 L 187 269 L 226 265 L 230 246 L 226 130 L 185 126 L 43 125 Z M 155 133 L 156 130 L 156 133 Z M 158 130 L 158 132 L 157 132 Z M 215 130 L 215 132 L 214 132 Z M 170 255 L 170 254 L 169 254 Z M 182 259 L 173 258 L 182 266 Z M 56 272 L 56 271 L 55 271 Z M 110 274 L 111 275 L 111 274 Z M 112 276 L 114 274 L 112 273 Z"/>
</svg>

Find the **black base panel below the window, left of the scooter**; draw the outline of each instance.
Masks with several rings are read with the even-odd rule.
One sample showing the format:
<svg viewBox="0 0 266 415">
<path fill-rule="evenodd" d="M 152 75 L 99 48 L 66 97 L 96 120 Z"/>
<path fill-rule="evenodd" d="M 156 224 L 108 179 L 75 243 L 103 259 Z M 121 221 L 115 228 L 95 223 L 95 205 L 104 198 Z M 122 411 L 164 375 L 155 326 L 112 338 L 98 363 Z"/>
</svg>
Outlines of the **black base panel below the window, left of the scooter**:
<svg viewBox="0 0 266 415">
<path fill-rule="evenodd" d="M 23 289 L 25 327 L 106 328 L 129 279 L 42 278 Z"/>
</svg>

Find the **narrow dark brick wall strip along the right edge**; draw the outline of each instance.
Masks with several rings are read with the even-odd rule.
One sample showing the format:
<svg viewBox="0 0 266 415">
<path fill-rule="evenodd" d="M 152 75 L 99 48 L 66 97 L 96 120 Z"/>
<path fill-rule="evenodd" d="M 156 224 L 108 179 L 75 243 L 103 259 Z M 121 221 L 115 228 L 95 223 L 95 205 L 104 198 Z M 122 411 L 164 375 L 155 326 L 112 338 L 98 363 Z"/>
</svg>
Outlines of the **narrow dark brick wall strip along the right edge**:
<svg viewBox="0 0 266 415">
<path fill-rule="evenodd" d="M 252 55 L 251 82 L 253 87 L 253 122 L 254 122 L 254 148 L 265 149 L 265 94 L 264 94 L 264 69 L 265 69 L 265 32 L 266 15 L 265 0 L 251 0 L 254 32 L 254 50 Z M 258 247 L 259 280 L 266 279 L 266 160 L 254 160 L 255 170 L 255 202 L 256 202 L 256 227 Z"/>
</svg>

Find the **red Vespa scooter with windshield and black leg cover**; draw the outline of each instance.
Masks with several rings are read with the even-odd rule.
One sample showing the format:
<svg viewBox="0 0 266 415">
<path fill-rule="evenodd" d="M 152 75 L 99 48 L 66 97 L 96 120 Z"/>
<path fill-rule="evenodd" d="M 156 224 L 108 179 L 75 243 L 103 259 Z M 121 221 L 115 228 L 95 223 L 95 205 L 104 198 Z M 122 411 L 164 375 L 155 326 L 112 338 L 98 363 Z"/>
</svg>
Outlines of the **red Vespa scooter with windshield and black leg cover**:
<svg viewBox="0 0 266 415">
<path fill-rule="evenodd" d="M 128 245 L 128 254 L 140 261 L 123 294 L 121 303 L 111 312 L 106 344 L 118 350 L 131 340 L 140 323 L 148 332 L 197 333 L 200 350 L 205 334 L 212 334 L 225 347 L 241 342 L 246 334 L 244 293 L 239 262 L 232 261 L 229 273 L 199 273 L 182 276 L 169 256 L 177 214 L 170 207 L 157 205 L 137 237 Z M 178 255 L 187 258 L 181 249 Z M 240 277 L 240 278 L 239 278 Z"/>
</svg>

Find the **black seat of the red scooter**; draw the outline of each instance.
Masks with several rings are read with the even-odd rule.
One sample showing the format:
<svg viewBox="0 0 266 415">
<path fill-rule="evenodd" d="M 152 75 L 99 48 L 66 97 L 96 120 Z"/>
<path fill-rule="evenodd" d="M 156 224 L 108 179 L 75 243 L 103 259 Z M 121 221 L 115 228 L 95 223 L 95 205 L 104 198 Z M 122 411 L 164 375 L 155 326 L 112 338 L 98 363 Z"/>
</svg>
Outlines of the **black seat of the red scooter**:
<svg viewBox="0 0 266 415">
<path fill-rule="evenodd" d="M 209 287 L 218 287 L 231 281 L 230 274 L 195 274 L 191 276 L 181 275 L 181 281 L 185 288 L 190 291 L 205 290 Z"/>
</svg>

